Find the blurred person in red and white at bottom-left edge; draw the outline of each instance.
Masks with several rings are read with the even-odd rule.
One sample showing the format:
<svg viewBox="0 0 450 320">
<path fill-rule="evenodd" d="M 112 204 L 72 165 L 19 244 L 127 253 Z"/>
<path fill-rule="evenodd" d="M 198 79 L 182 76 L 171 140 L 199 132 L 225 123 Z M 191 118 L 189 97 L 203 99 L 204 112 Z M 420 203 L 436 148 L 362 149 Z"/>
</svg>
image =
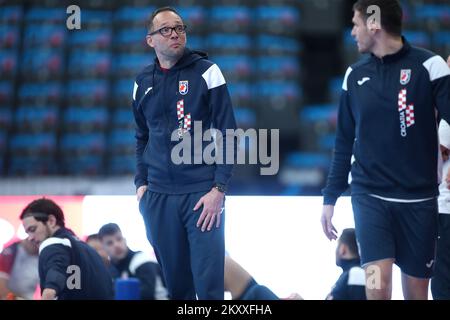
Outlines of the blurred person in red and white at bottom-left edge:
<svg viewBox="0 0 450 320">
<path fill-rule="evenodd" d="M 38 253 L 38 246 L 26 239 L 0 253 L 0 300 L 33 299 L 39 284 Z"/>
</svg>

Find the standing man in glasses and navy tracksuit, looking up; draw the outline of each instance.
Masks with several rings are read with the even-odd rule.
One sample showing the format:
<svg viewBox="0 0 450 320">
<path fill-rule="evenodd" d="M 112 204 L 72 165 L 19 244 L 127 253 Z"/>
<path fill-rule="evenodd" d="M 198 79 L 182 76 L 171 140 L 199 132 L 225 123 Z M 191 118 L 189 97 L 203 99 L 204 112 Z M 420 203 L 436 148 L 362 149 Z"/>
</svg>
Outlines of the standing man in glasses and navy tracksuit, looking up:
<svg viewBox="0 0 450 320">
<path fill-rule="evenodd" d="M 210 128 L 222 133 L 222 151 L 233 143 L 226 136 L 236 128 L 230 95 L 219 67 L 186 48 L 186 25 L 175 9 L 152 13 L 146 39 L 156 59 L 136 78 L 133 112 L 135 185 L 147 237 L 171 299 L 223 299 L 223 208 L 233 166 L 175 164 L 172 150 L 179 143 L 173 136 L 190 139 L 198 123 L 200 134 Z M 191 160 L 205 144 L 194 149 Z"/>
</svg>

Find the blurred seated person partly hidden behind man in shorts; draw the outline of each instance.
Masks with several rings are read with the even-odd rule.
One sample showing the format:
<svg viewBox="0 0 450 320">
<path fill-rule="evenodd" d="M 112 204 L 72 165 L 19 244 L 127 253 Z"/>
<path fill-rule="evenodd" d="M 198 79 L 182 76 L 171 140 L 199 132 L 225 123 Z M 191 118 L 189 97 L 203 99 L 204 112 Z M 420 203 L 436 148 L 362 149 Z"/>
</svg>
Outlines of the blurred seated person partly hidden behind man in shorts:
<svg viewBox="0 0 450 320">
<path fill-rule="evenodd" d="M 360 266 L 355 229 L 342 231 L 336 248 L 336 265 L 343 272 L 327 300 L 366 300 L 365 273 Z"/>
</svg>

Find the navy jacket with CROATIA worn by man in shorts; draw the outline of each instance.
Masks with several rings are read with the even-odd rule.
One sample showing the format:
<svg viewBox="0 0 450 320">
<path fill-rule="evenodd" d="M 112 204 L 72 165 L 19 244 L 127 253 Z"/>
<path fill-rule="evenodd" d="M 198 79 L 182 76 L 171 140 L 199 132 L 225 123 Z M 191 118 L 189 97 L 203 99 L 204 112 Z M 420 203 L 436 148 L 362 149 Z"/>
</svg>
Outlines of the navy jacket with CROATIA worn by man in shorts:
<svg viewBox="0 0 450 320">
<path fill-rule="evenodd" d="M 399 52 L 367 55 L 347 70 L 324 204 L 334 205 L 349 184 L 352 195 L 439 194 L 436 113 L 450 121 L 450 69 L 403 42 Z"/>
</svg>

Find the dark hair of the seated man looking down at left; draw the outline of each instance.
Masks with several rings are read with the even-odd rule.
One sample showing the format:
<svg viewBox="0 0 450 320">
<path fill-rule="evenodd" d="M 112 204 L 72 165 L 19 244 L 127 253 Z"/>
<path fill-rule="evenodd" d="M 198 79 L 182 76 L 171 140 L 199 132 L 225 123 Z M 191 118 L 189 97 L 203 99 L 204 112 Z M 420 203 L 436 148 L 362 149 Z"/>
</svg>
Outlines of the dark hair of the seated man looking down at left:
<svg viewBox="0 0 450 320">
<path fill-rule="evenodd" d="M 46 223 L 49 215 L 56 218 L 56 224 L 60 227 L 65 227 L 64 213 L 60 206 L 53 200 L 47 198 L 36 199 L 28 204 L 20 214 L 20 220 L 27 217 L 34 217 L 37 221 Z"/>
</svg>

